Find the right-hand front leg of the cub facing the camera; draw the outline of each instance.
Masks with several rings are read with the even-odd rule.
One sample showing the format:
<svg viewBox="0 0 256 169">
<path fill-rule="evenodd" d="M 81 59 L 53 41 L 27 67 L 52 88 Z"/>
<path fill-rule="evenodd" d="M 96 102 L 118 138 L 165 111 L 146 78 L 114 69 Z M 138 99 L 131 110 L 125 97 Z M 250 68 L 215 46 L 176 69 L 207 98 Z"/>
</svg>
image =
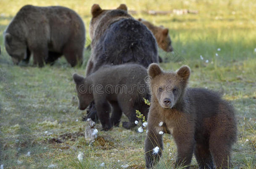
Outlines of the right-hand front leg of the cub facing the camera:
<svg viewBox="0 0 256 169">
<path fill-rule="evenodd" d="M 189 129 L 187 129 L 186 131 L 174 129 L 172 135 L 174 137 L 178 150 L 178 156 L 175 165 L 187 166 L 186 169 L 189 169 L 189 165 L 191 163 L 193 155 L 195 140 L 193 131 L 190 131 Z"/>
</svg>

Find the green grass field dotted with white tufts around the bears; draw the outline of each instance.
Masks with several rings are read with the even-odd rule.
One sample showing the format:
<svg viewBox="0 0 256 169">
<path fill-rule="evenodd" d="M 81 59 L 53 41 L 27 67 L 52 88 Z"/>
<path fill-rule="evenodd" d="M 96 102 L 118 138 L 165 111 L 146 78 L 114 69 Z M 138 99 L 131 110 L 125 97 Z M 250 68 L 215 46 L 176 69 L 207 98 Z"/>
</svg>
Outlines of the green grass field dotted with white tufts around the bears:
<svg viewBox="0 0 256 169">
<path fill-rule="evenodd" d="M 234 169 L 256 169 L 256 3 L 253 0 L 0 0 L 0 165 L 4 169 L 144 169 L 145 133 L 115 127 L 100 131 L 92 144 L 84 140 L 84 111 L 78 110 L 73 73 L 85 74 L 89 52 L 81 67 L 71 68 L 64 58 L 53 66 L 14 66 L 3 45 L 3 31 L 26 4 L 63 5 L 75 10 L 86 25 L 89 45 L 93 3 L 117 8 L 126 3 L 144 18 L 170 29 L 175 54 L 159 50 L 165 70 L 191 67 L 189 86 L 222 91 L 233 104 L 238 141 L 233 146 Z M 146 15 L 142 10 L 198 10 L 198 14 Z M 218 50 L 219 48 L 219 50 Z M 201 60 L 200 55 L 204 58 Z M 208 60 L 208 63 L 206 63 Z M 126 117 L 122 117 L 122 121 Z M 165 150 L 157 169 L 172 168 L 176 147 L 164 136 Z M 84 159 L 79 161 L 79 153 Z M 104 166 L 100 166 L 104 162 Z M 102 164 L 103 165 L 103 164 Z M 193 157 L 191 168 L 197 168 Z M 2 168 L 1 168 L 2 169 Z"/>
</svg>

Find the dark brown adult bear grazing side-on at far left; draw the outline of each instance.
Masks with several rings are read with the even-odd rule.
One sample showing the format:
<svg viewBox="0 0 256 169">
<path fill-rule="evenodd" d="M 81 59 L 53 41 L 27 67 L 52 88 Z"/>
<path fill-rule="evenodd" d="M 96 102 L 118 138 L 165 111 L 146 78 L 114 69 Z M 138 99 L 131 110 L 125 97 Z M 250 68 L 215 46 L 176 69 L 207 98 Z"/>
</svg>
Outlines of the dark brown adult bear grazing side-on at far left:
<svg viewBox="0 0 256 169">
<path fill-rule="evenodd" d="M 85 27 L 78 14 L 61 6 L 26 5 L 18 11 L 4 33 L 5 48 L 13 63 L 40 67 L 64 55 L 71 66 L 83 61 Z"/>
</svg>

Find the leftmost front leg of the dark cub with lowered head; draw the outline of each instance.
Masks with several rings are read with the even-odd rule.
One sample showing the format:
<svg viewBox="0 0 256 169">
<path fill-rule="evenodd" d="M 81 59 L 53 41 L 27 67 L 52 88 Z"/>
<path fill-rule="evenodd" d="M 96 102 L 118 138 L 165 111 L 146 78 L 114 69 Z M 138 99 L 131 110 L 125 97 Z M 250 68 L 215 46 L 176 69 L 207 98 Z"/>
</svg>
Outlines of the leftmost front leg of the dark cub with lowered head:
<svg viewBox="0 0 256 169">
<path fill-rule="evenodd" d="M 109 103 L 104 101 L 95 101 L 95 107 L 97 111 L 97 116 L 102 124 L 102 128 L 104 131 L 108 131 L 111 129 L 112 125 L 110 123 L 110 105 Z"/>
</svg>

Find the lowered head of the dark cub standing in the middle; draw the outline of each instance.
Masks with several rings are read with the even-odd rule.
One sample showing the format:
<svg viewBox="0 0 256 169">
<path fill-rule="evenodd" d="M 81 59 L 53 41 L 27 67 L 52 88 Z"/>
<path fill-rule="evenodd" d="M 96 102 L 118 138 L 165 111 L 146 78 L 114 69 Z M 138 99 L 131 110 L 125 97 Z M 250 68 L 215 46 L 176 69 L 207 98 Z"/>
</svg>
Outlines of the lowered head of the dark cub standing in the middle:
<svg viewBox="0 0 256 169">
<path fill-rule="evenodd" d="M 93 94 L 89 84 L 87 84 L 86 78 L 73 74 L 73 79 L 76 83 L 76 92 L 78 96 L 78 108 L 85 110 L 87 106 L 93 101 Z"/>
</svg>

